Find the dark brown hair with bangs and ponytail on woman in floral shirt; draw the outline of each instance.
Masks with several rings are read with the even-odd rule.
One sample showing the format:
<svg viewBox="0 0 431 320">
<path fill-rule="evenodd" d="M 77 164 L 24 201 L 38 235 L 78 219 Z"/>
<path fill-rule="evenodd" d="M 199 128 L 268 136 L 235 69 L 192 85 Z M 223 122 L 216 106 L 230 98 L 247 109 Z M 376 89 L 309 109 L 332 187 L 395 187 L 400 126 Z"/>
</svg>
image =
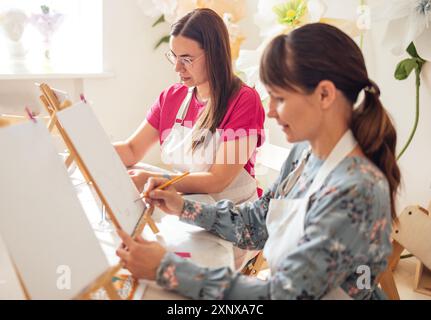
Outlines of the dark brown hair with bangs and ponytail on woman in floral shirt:
<svg viewBox="0 0 431 320">
<path fill-rule="evenodd" d="M 365 98 L 353 109 L 350 128 L 365 155 L 386 176 L 392 218 L 401 174 L 395 158 L 397 133 L 380 101 L 380 89 L 369 79 L 364 57 L 356 43 L 341 30 L 323 23 L 280 35 L 266 48 L 260 78 L 269 86 L 312 93 L 322 80 L 330 80 L 353 105 L 364 90 Z"/>
</svg>

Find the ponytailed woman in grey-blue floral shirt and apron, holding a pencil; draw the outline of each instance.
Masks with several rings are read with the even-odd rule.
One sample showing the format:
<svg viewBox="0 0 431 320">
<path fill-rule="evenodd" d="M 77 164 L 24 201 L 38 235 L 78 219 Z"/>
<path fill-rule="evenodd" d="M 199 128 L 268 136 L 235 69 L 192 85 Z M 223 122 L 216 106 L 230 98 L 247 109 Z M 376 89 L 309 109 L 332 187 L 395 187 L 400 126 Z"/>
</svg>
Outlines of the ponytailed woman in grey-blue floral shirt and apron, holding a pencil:
<svg viewBox="0 0 431 320">
<path fill-rule="evenodd" d="M 296 143 L 263 197 L 207 205 L 184 200 L 173 187 L 154 190 L 166 181 L 159 178 L 147 190 L 150 202 L 181 221 L 240 248 L 264 249 L 271 277 L 202 268 L 122 231 L 125 248 L 117 254 L 136 277 L 194 299 L 377 297 L 400 172 L 396 132 L 360 49 L 335 27 L 306 25 L 269 44 L 260 76 L 271 98 L 268 117 Z"/>
</svg>

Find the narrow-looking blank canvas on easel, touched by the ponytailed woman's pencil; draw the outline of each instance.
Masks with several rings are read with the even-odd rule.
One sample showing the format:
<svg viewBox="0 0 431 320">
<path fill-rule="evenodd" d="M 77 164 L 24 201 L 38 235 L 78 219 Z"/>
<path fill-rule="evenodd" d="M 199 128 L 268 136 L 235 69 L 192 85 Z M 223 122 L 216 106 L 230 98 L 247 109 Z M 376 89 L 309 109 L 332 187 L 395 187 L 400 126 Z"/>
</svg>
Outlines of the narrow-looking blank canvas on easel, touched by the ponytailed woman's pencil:
<svg viewBox="0 0 431 320">
<path fill-rule="evenodd" d="M 57 113 L 76 151 L 121 228 L 132 234 L 145 210 L 139 192 L 91 107 L 78 103 Z"/>
</svg>

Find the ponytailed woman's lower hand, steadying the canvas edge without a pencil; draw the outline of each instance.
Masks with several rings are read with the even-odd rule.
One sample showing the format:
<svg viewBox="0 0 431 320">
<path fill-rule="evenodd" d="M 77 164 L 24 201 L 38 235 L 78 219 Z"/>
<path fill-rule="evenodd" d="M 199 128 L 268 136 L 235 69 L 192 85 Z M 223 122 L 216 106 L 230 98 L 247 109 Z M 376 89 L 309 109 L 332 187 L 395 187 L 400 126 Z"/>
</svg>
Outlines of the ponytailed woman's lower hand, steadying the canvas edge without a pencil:
<svg viewBox="0 0 431 320">
<path fill-rule="evenodd" d="M 166 249 L 158 242 L 144 240 L 141 236 L 134 240 L 123 230 L 117 230 L 117 233 L 123 241 L 116 252 L 123 267 L 137 279 L 155 280 Z"/>
</svg>

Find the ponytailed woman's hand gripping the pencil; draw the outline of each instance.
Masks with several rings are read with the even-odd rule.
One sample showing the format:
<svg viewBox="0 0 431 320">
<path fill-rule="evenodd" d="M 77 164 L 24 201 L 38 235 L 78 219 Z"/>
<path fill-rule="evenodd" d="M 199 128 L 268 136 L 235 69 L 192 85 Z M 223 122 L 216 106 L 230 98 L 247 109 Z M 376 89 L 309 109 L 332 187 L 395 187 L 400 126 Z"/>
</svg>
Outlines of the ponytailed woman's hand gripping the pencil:
<svg viewBox="0 0 431 320">
<path fill-rule="evenodd" d="M 169 186 L 163 190 L 156 190 L 168 180 L 165 178 L 151 177 L 145 186 L 144 193 L 148 194 L 145 200 L 149 204 L 162 209 L 167 214 L 179 216 L 183 212 L 184 199 L 180 196 L 173 186 Z"/>
</svg>

